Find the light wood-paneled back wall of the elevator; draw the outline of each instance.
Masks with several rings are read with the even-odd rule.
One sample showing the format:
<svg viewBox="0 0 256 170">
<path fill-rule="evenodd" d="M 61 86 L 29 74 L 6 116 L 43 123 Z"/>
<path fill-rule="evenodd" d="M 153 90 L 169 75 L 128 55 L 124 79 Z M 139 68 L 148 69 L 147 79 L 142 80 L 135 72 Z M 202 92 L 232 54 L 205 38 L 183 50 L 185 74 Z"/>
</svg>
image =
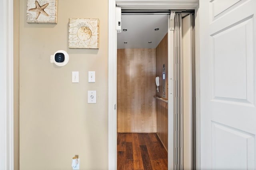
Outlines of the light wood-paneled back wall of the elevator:
<svg viewBox="0 0 256 170">
<path fill-rule="evenodd" d="M 155 49 L 118 49 L 118 132 L 156 132 L 155 77 Z"/>
</svg>

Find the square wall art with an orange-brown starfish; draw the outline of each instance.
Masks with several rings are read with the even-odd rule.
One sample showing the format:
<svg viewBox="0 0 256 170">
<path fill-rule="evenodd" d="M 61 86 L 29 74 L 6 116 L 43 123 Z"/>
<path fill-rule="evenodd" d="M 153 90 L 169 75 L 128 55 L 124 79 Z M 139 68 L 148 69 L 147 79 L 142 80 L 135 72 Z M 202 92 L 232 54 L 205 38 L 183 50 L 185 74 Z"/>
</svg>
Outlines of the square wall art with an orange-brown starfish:
<svg viewBox="0 0 256 170">
<path fill-rule="evenodd" d="M 58 0 L 28 0 L 28 23 L 57 23 Z"/>
</svg>

